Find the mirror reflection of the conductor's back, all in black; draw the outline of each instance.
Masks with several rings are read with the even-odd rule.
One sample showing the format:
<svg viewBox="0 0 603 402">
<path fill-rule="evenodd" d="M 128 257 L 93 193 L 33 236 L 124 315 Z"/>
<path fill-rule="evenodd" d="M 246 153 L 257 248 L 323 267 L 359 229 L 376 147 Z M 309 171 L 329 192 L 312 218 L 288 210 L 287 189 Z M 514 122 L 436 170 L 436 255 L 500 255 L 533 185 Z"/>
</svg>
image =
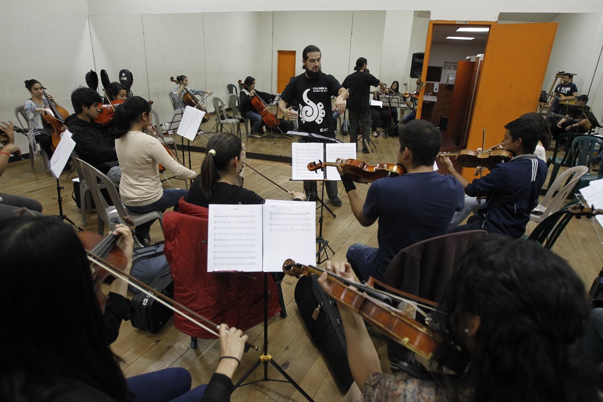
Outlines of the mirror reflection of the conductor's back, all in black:
<svg viewBox="0 0 603 402">
<path fill-rule="evenodd" d="M 350 91 L 350 99 L 347 104 L 348 116 L 350 116 L 350 142 L 358 141 L 358 127 L 362 133 L 362 153 L 367 153 L 368 140 L 370 136 L 370 87 L 377 85 L 385 90 L 385 84 L 379 78 L 370 74 L 367 69 L 367 59 L 359 57 L 352 74 L 343 81 L 343 87 Z"/>
</svg>

